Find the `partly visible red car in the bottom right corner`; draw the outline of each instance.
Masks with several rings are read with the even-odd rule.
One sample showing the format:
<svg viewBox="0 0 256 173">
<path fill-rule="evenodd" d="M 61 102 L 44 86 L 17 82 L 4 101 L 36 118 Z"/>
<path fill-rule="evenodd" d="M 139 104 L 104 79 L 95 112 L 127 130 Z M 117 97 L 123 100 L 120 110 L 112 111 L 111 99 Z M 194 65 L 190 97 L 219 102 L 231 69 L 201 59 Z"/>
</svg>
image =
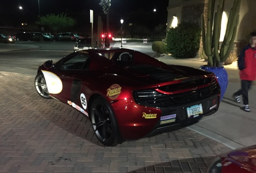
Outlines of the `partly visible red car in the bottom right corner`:
<svg viewBox="0 0 256 173">
<path fill-rule="evenodd" d="M 256 145 L 217 156 L 207 173 L 256 173 Z"/>
</svg>

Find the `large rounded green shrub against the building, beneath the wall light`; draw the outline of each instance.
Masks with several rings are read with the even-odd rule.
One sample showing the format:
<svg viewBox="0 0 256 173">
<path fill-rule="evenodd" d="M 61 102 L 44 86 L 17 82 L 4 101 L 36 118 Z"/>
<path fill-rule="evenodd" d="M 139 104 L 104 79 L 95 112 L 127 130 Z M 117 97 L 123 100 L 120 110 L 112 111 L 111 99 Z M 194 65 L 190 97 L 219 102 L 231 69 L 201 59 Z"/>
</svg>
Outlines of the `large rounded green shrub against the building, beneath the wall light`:
<svg viewBox="0 0 256 173">
<path fill-rule="evenodd" d="M 175 58 L 194 58 L 200 47 L 201 28 L 196 23 L 181 22 L 167 32 L 166 50 Z"/>
</svg>

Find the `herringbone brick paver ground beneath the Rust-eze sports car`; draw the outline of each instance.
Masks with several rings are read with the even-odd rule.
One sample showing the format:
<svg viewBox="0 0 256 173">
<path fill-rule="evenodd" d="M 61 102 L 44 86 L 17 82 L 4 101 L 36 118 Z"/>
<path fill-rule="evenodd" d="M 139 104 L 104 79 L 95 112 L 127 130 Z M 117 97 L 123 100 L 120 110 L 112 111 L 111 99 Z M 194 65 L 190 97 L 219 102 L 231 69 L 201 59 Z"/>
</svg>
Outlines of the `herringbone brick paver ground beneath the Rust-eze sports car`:
<svg viewBox="0 0 256 173">
<path fill-rule="evenodd" d="M 0 72 L 0 173 L 205 173 L 225 145 L 190 129 L 105 147 L 90 121 Z"/>
</svg>

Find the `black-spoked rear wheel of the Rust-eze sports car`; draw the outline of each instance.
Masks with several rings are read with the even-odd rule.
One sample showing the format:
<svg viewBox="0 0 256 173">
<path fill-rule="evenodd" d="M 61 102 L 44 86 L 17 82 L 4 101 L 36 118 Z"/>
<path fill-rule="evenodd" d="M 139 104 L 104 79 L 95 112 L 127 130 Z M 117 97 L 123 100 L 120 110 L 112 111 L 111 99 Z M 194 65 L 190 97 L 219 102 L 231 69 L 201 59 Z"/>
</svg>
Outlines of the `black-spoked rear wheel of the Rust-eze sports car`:
<svg viewBox="0 0 256 173">
<path fill-rule="evenodd" d="M 114 113 L 105 99 L 98 97 L 93 101 L 90 115 L 93 131 L 103 145 L 115 146 L 121 143 L 122 137 Z"/>
</svg>

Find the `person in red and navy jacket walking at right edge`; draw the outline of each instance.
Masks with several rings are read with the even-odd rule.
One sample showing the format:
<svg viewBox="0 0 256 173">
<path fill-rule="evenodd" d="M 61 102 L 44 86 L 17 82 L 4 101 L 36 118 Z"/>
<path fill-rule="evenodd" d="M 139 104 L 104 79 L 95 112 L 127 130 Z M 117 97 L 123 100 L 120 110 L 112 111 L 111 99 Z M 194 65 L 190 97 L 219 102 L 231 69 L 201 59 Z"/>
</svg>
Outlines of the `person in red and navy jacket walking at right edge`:
<svg viewBox="0 0 256 173">
<path fill-rule="evenodd" d="M 252 81 L 256 80 L 256 32 L 250 34 L 250 44 L 242 49 L 237 64 L 241 79 L 241 89 L 233 94 L 233 98 L 237 103 L 240 103 L 242 95 L 244 103 L 242 110 L 250 112 L 248 91 L 252 86 Z"/>
</svg>

